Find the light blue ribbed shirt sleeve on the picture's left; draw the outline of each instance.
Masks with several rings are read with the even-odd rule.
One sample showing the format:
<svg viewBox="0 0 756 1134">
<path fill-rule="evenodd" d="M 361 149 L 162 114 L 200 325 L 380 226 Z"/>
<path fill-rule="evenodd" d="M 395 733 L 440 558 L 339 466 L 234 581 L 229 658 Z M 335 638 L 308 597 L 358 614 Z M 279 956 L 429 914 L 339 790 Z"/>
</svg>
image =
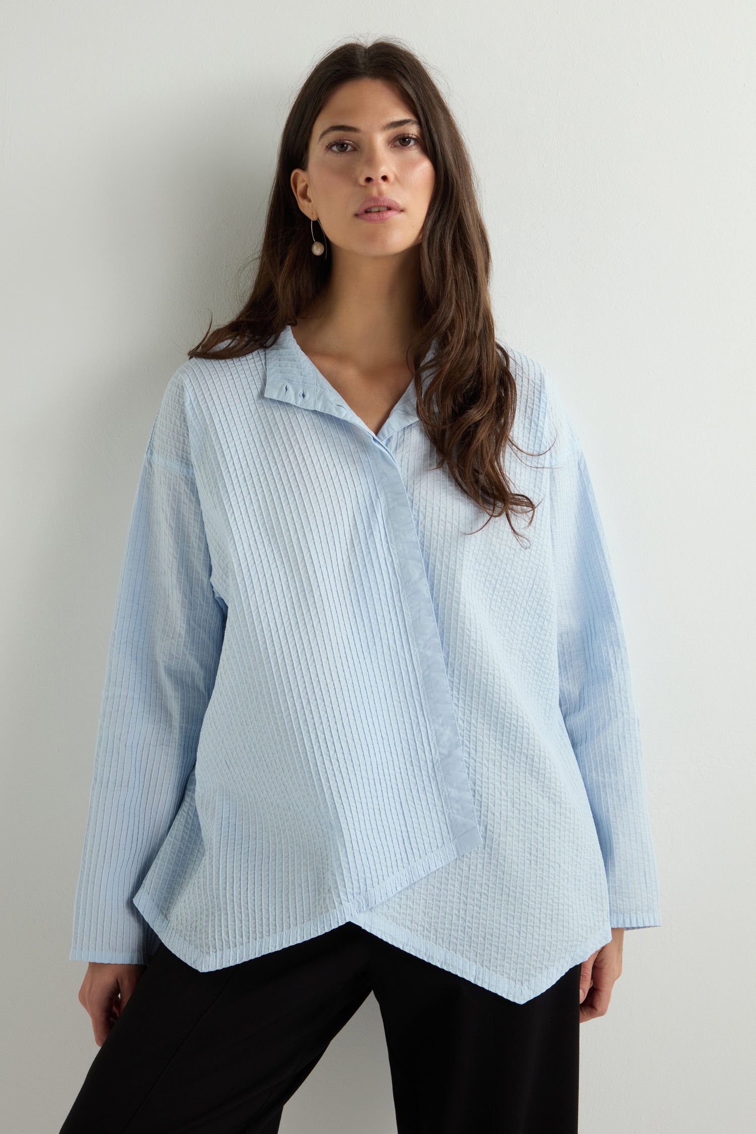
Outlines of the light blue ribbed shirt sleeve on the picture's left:
<svg viewBox="0 0 756 1134">
<path fill-rule="evenodd" d="M 145 964 L 159 941 L 131 897 L 194 768 L 226 613 L 210 581 L 182 370 L 155 418 L 108 653 L 71 960 Z"/>
</svg>

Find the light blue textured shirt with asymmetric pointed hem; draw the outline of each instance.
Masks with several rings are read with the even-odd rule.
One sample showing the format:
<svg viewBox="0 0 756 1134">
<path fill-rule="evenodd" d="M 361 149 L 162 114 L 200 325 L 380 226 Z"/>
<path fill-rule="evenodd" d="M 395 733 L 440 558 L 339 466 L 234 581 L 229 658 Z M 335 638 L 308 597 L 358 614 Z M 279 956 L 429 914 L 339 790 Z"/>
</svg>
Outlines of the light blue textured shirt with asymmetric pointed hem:
<svg viewBox="0 0 756 1134">
<path fill-rule="evenodd" d="M 509 354 L 515 440 L 554 442 L 507 449 L 538 503 L 521 541 L 433 468 L 414 383 L 376 435 L 289 327 L 172 375 L 118 586 L 70 959 L 146 964 L 162 940 L 207 972 L 352 921 L 521 1004 L 611 926 L 661 924 L 585 456 L 551 375 Z"/>
</svg>

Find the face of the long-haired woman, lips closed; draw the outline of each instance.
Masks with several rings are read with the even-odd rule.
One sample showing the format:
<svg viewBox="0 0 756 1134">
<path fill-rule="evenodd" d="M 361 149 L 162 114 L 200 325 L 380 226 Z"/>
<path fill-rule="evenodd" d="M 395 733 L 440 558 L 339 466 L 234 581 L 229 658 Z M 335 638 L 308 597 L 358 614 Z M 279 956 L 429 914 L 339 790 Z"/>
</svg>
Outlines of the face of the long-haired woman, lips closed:
<svg viewBox="0 0 756 1134">
<path fill-rule="evenodd" d="M 421 243 L 434 185 L 411 108 L 390 83 L 372 78 L 332 92 L 313 126 L 307 169 L 291 174 L 299 208 L 320 221 L 330 244 L 366 256 L 397 255 Z M 365 219 L 362 210 L 375 197 L 396 206 Z M 313 225 L 316 240 L 320 225 Z"/>
</svg>

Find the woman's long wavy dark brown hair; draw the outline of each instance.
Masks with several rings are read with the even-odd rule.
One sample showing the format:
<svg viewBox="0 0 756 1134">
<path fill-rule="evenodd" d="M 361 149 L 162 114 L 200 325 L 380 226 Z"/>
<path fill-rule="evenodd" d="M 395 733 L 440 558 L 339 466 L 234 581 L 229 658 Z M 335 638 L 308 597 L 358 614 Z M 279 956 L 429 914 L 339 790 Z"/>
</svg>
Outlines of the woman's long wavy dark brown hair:
<svg viewBox="0 0 756 1134">
<path fill-rule="evenodd" d="M 529 511 L 529 526 L 537 506 L 513 491 L 503 466 L 507 445 L 525 450 L 510 437 L 517 388 L 509 354 L 495 340 L 489 294 L 491 247 L 470 161 L 441 92 L 421 60 L 400 43 L 391 39 L 343 43 L 311 71 L 281 135 L 252 294 L 238 315 L 212 332 L 209 328 L 188 356 L 235 358 L 271 346 L 328 282 L 331 257 L 312 255 L 309 225 L 290 176 L 294 169 L 307 168 L 313 125 L 332 91 L 357 78 L 384 79 L 401 92 L 421 122 L 435 169 L 419 245 L 421 330 L 407 352 L 417 415 L 440 457 L 435 467 L 445 464 L 460 489 L 490 513 L 489 521 L 506 513 L 519 539 L 512 514 Z M 423 366 L 434 339 L 435 354 Z M 424 392 L 425 367 L 434 374 Z"/>
</svg>

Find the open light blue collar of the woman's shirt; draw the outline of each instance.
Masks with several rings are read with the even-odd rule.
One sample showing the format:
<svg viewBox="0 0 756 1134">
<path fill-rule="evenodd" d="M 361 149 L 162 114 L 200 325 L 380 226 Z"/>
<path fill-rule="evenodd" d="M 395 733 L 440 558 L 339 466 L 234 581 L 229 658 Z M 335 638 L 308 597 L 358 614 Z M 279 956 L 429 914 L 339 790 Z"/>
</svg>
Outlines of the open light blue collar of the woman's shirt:
<svg viewBox="0 0 756 1134">
<path fill-rule="evenodd" d="M 425 356 L 426 359 L 435 355 L 436 345 L 438 339 L 434 339 Z M 423 390 L 426 389 L 432 374 L 432 371 L 425 373 Z M 283 328 L 277 341 L 265 349 L 263 396 L 275 398 L 278 401 L 288 401 L 300 409 L 315 409 L 334 417 L 342 417 L 365 430 L 371 437 L 377 437 L 380 441 L 385 441 L 398 430 L 418 420 L 415 383 L 410 382 L 377 434 L 373 433 L 304 353 L 289 324 Z"/>
</svg>

